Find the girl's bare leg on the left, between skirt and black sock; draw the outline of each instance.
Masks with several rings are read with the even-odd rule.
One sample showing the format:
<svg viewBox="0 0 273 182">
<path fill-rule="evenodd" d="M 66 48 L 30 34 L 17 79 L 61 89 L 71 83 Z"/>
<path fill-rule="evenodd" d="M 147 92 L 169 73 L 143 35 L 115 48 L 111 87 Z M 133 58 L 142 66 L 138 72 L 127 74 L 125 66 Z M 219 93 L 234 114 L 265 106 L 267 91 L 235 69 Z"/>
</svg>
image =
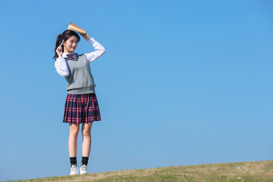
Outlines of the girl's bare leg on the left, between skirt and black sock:
<svg viewBox="0 0 273 182">
<path fill-rule="evenodd" d="M 70 132 L 68 139 L 69 157 L 77 157 L 77 139 L 79 133 L 79 124 L 69 123 Z"/>
</svg>

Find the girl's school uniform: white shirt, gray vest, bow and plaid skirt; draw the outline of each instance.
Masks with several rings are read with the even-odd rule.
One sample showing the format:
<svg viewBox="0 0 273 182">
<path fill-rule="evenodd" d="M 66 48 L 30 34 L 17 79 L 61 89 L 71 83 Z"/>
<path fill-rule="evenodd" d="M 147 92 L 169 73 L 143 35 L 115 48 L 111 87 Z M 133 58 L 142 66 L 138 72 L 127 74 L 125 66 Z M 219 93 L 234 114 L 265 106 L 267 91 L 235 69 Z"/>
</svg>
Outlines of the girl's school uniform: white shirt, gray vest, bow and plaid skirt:
<svg viewBox="0 0 273 182">
<path fill-rule="evenodd" d="M 90 38 L 88 42 L 96 51 L 77 55 L 76 58 L 63 53 L 55 62 L 57 72 L 67 81 L 68 94 L 63 118 L 63 122 L 66 123 L 89 123 L 101 120 L 95 93 L 96 84 L 89 64 L 102 56 L 105 49 L 94 38 Z"/>
</svg>

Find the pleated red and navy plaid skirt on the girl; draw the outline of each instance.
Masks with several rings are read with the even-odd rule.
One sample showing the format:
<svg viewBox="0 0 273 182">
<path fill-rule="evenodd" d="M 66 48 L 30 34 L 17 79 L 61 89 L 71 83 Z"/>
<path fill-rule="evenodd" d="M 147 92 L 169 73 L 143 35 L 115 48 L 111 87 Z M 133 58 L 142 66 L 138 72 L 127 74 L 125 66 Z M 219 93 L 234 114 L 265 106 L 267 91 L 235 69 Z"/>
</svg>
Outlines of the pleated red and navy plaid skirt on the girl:
<svg viewBox="0 0 273 182">
<path fill-rule="evenodd" d="M 100 109 L 95 93 L 67 94 L 63 122 L 89 123 L 100 120 Z"/>
</svg>

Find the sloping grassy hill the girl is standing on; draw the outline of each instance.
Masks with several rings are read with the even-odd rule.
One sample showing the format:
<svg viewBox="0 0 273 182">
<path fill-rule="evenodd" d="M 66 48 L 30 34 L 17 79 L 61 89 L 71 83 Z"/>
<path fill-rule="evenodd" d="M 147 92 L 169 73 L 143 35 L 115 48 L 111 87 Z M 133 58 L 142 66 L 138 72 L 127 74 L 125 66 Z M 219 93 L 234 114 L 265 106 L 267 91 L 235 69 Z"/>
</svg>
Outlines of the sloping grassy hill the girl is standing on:
<svg viewBox="0 0 273 182">
<path fill-rule="evenodd" d="M 273 161 L 169 166 L 17 181 L 273 181 Z"/>
</svg>

